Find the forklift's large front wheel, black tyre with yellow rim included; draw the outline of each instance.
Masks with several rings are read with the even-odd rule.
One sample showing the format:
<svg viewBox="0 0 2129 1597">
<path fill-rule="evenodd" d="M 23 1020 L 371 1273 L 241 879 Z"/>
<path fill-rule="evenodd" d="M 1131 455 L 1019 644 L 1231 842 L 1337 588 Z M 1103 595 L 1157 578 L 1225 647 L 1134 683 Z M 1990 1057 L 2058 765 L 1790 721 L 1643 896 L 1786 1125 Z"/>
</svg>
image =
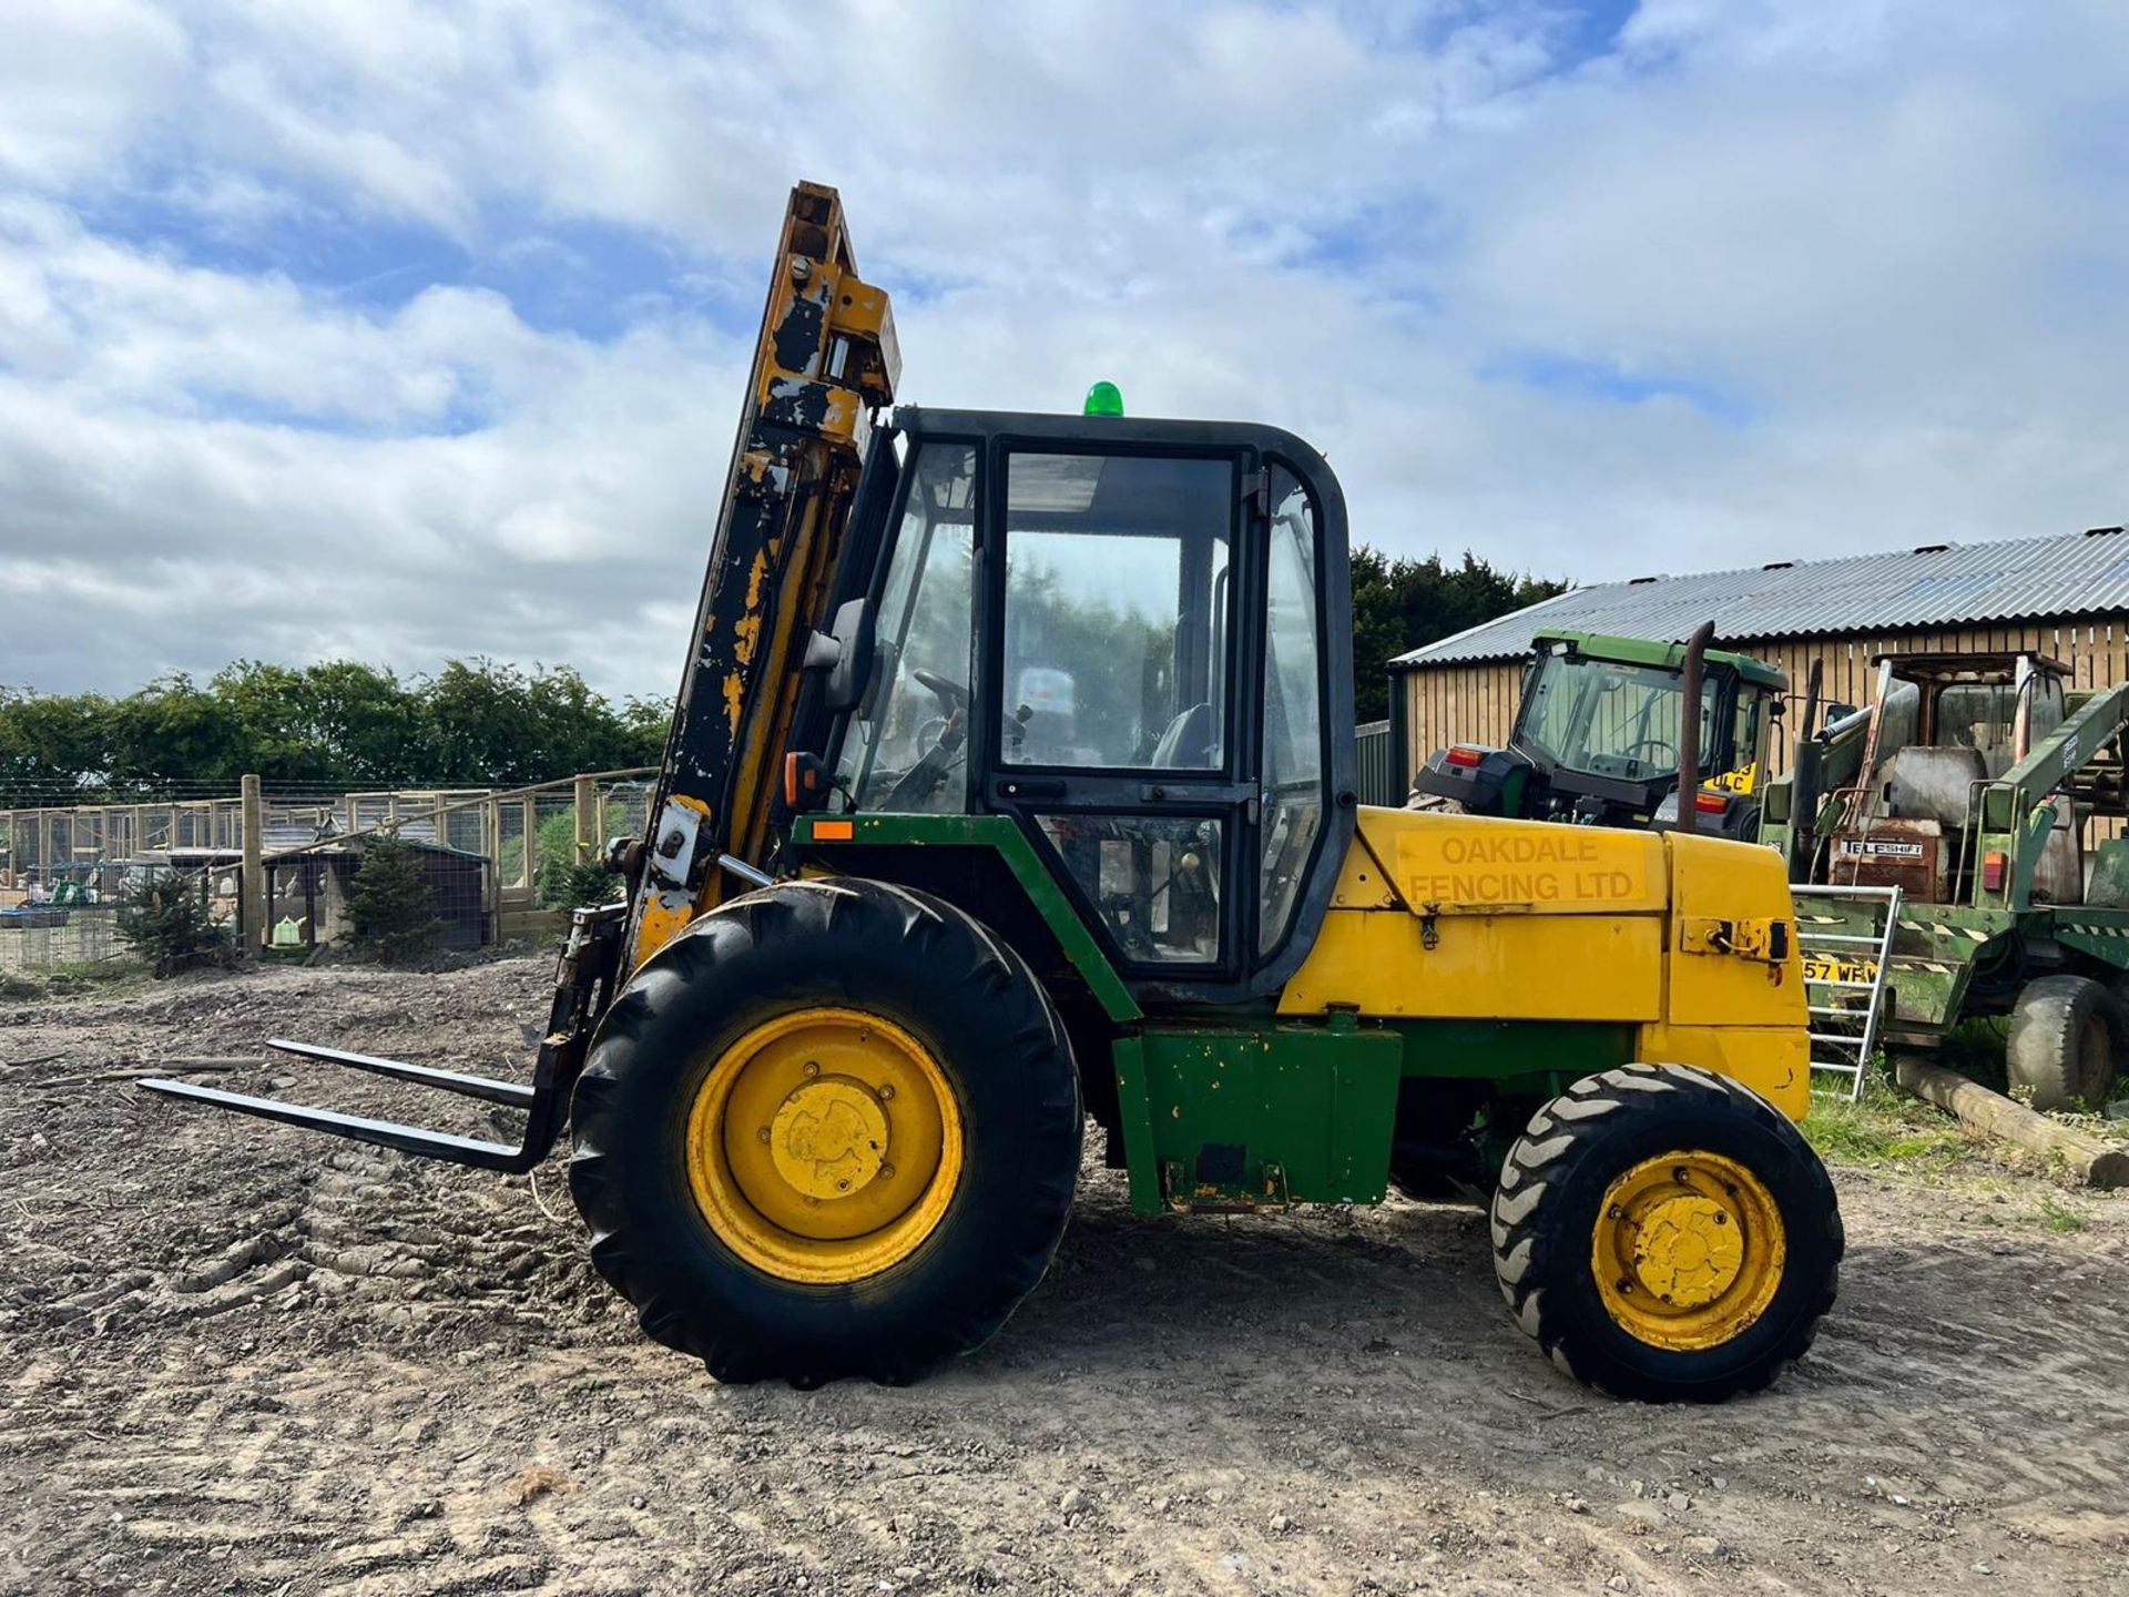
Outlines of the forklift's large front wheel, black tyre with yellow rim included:
<svg viewBox="0 0 2129 1597">
<path fill-rule="evenodd" d="M 1079 1077 L 1026 965 L 952 905 L 792 882 L 703 916 L 573 1103 L 592 1261 L 717 1380 L 915 1380 L 1041 1280 Z"/>
</svg>

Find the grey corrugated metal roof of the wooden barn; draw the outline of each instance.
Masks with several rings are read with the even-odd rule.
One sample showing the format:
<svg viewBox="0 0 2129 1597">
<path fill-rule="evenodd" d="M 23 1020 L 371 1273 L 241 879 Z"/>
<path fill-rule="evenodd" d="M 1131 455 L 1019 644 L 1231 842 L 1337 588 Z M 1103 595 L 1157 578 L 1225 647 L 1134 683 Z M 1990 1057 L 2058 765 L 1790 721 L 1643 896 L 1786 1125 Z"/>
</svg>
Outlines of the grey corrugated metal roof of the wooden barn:
<svg viewBox="0 0 2129 1597">
<path fill-rule="evenodd" d="M 2129 609 L 2129 534 L 2118 526 L 1569 588 L 1390 664 L 1505 660 L 1526 654 L 1548 626 L 1676 643 L 1714 622 L 1729 645 L 2114 609 Z"/>
</svg>

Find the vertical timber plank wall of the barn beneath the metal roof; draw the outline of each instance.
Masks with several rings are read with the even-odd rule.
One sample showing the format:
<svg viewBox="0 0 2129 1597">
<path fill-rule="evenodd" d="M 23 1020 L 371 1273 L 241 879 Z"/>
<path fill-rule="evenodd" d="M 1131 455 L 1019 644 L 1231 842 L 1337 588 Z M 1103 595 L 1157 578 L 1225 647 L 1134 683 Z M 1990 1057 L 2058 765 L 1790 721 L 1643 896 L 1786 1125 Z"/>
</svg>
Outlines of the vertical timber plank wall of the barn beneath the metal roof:
<svg viewBox="0 0 2129 1597">
<path fill-rule="evenodd" d="M 1788 675 L 1795 703 L 1790 722 L 1803 711 L 1803 690 L 1812 662 L 1825 662 L 1820 703 L 1867 705 L 1876 694 L 1874 660 L 1880 654 L 1988 654 L 2029 649 L 2052 656 L 2069 669 L 2074 688 L 2110 688 L 2129 677 L 2129 615 L 2078 615 L 2025 626 L 1918 628 L 1910 632 L 1863 632 L 1839 639 L 1722 639 L 1724 649 L 1752 654 Z M 1405 715 L 1409 745 L 1405 777 L 1446 743 L 1503 743 L 1522 694 L 1522 662 L 1433 666 L 1405 673 Z M 1776 739 L 1773 773 L 1788 769 L 1786 739 Z"/>
</svg>

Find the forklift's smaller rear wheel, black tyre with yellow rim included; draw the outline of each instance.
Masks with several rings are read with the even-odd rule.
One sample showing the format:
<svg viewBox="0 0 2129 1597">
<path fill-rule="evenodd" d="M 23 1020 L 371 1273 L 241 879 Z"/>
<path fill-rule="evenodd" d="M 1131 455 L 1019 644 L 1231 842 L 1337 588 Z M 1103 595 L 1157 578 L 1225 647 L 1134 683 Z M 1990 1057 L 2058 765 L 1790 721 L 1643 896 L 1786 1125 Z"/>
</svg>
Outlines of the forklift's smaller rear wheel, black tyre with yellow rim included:
<svg viewBox="0 0 2129 1597">
<path fill-rule="evenodd" d="M 1780 1109 L 1703 1069 L 1627 1065 L 1531 1116 L 1492 1197 L 1492 1250 L 1516 1322 L 1565 1373 L 1720 1403 L 1810 1350 L 1844 1233 Z"/>
</svg>

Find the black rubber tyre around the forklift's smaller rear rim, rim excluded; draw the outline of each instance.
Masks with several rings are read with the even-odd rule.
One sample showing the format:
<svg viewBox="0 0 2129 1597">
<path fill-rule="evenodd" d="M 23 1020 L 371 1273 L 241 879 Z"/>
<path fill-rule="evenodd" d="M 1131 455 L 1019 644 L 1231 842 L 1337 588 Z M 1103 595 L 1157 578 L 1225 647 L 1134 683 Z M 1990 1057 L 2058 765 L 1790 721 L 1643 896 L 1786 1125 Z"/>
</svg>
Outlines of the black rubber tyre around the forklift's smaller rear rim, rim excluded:
<svg viewBox="0 0 2129 1597">
<path fill-rule="evenodd" d="M 1754 1171 L 1782 1209 L 1788 1244 L 1759 1322 L 1697 1352 L 1620 1329 L 1590 1271 L 1612 1180 L 1680 1148 L 1729 1154 Z M 1839 1199 L 1803 1135 L 1748 1086 L 1690 1065 L 1624 1065 L 1569 1086 L 1531 1116 L 1492 1201 L 1495 1275 L 1522 1331 L 1575 1380 L 1648 1403 L 1720 1403 L 1773 1382 L 1810 1352 L 1839 1290 L 1844 1250 Z"/>
</svg>

